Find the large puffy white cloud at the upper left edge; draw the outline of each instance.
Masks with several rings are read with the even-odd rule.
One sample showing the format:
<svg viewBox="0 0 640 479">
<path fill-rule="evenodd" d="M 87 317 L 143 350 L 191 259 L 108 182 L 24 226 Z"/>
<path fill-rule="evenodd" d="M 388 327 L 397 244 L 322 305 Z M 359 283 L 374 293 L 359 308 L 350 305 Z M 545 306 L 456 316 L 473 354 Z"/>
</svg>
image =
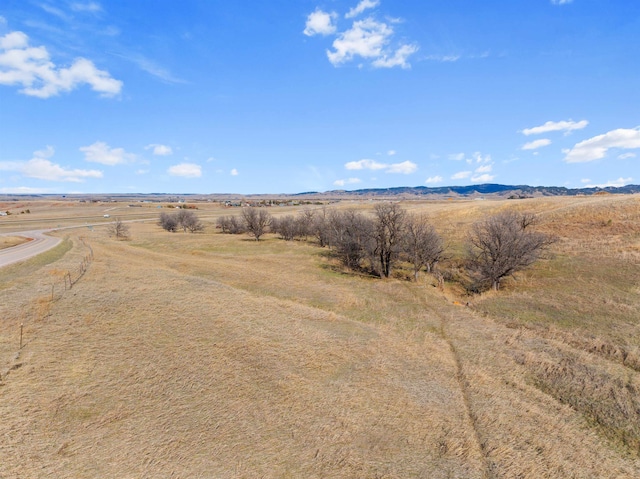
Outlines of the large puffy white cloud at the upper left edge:
<svg viewBox="0 0 640 479">
<path fill-rule="evenodd" d="M 90 60 L 77 58 L 68 68 L 57 67 L 45 47 L 30 47 L 23 32 L 10 32 L 0 37 L 0 85 L 18 85 L 20 93 L 49 98 L 71 91 L 82 84 L 90 85 L 102 96 L 115 96 L 122 82 L 109 72 L 98 70 Z"/>
</svg>

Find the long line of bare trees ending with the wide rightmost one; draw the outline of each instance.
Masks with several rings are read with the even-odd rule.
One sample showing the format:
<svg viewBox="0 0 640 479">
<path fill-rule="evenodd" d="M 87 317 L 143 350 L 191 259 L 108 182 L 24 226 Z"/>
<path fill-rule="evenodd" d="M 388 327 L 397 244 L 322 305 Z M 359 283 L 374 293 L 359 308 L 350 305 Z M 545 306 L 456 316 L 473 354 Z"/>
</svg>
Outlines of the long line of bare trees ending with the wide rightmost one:
<svg viewBox="0 0 640 479">
<path fill-rule="evenodd" d="M 535 231 L 536 217 L 506 211 L 474 223 L 466 239 L 465 267 L 473 289 L 498 290 L 501 281 L 532 265 L 555 239 Z M 382 278 L 405 262 L 414 279 L 432 272 L 446 259 L 446 247 L 429 218 L 411 214 L 398 203 L 379 203 L 373 214 L 330 208 L 305 209 L 297 215 L 273 217 L 264 208 L 246 207 L 241 216 L 222 216 L 223 233 L 248 233 L 259 241 L 266 233 L 286 241 L 315 238 L 353 270 Z"/>
</svg>

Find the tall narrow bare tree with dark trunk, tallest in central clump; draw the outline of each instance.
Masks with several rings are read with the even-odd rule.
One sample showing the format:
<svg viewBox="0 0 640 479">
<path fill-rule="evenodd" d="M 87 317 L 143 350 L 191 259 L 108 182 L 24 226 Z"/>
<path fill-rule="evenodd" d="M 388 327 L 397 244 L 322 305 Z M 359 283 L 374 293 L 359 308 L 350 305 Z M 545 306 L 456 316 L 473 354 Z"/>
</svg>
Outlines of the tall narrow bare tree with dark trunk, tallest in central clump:
<svg viewBox="0 0 640 479">
<path fill-rule="evenodd" d="M 405 226 L 405 210 L 398 203 L 381 203 L 375 206 L 376 266 L 380 277 L 391 275 L 393 263 L 401 251 Z"/>
</svg>

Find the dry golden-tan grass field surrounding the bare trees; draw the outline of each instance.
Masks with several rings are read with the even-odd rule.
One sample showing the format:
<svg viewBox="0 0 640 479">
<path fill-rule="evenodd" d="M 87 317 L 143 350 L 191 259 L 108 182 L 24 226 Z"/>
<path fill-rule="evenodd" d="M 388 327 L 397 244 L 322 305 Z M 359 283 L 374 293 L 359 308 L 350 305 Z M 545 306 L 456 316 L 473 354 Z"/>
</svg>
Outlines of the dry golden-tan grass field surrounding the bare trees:
<svg viewBox="0 0 640 479">
<path fill-rule="evenodd" d="M 640 477 L 640 197 L 403 206 L 445 237 L 447 277 L 491 212 L 534 211 L 559 241 L 468 295 L 349 272 L 312 241 L 220 234 L 239 211 L 204 205 L 202 234 L 62 230 L 0 270 L 0 478 Z M 24 207 L 9 218 L 109 221 Z"/>
</svg>

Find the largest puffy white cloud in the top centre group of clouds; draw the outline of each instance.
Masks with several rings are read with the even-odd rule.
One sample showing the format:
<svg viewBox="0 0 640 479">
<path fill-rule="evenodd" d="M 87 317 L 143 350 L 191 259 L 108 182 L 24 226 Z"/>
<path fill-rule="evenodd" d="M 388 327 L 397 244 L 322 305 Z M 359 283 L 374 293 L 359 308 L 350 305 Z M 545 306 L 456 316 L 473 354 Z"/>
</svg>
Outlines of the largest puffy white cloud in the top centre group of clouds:
<svg viewBox="0 0 640 479">
<path fill-rule="evenodd" d="M 333 41 L 334 51 L 327 50 L 329 61 L 338 66 L 355 57 L 372 61 L 377 68 L 393 68 L 400 66 L 409 68 L 407 58 L 418 49 L 415 45 L 401 45 L 397 49 L 389 49 L 393 36 L 393 28 L 373 18 L 353 22 L 349 30 L 338 35 Z"/>
</svg>

